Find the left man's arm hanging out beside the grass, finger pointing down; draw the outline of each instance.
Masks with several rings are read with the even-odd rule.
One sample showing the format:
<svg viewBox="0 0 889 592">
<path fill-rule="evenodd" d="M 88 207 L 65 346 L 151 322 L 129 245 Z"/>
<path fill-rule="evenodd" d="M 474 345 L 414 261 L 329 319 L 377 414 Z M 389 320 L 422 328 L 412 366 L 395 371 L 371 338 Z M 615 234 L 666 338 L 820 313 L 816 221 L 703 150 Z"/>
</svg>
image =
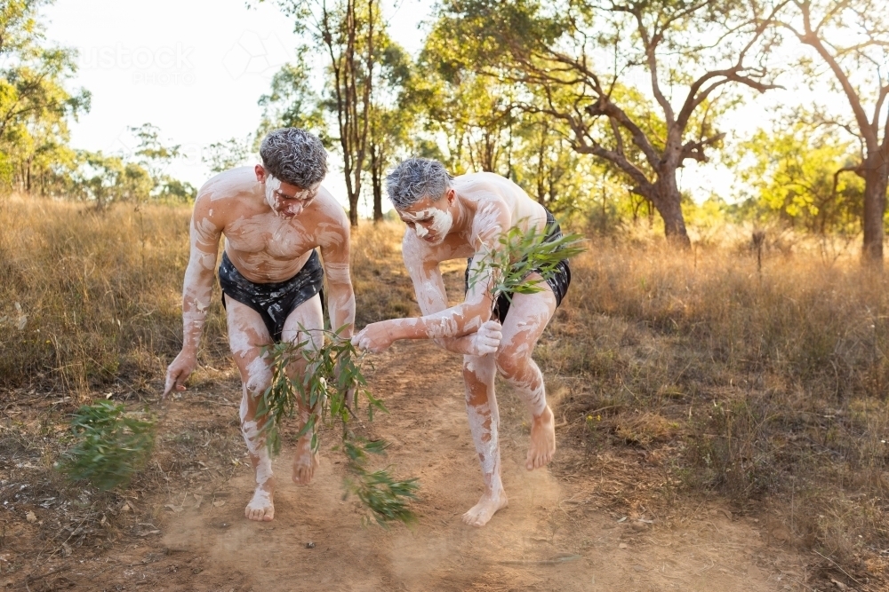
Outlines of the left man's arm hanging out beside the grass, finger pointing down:
<svg viewBox="0 0 889 592">
<path fill-rule="evenodd" d="M 185 391 L 185 381 L 197 367 L 197 347 L 210 307 L 213 272 L 222 235 L 221 228 L 210 217 L 209 202 L 209 195 L 198 195 L 191 217 L 191 253 L 182 286 L 182 350 L 167 368 L 164 398 L 173 389 Z"/>
</svg>

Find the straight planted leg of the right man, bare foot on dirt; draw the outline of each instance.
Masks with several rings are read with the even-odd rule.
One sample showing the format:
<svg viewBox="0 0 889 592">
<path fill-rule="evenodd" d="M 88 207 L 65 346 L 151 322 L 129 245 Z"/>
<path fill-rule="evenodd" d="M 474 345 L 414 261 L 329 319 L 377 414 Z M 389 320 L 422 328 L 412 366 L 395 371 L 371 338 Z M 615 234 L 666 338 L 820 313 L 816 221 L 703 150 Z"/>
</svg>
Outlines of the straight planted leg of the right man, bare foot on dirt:
<svg viewBox="0 0 889 592">
<path fill-rule="evenodd" d="M 508 500 L 501 482 L 500 442 L 498 428 L 500 413 L 494 394 L 493 354 L 463 357 L 463 380 L 466 383 L 466 412 L 469 430 L 476 445 L 478 462 L 482 465 L 485 493 L 481 500 L 463 514 L 463 522 L 484 526 L 494 513 L 506 508 Z"/>
</svg>

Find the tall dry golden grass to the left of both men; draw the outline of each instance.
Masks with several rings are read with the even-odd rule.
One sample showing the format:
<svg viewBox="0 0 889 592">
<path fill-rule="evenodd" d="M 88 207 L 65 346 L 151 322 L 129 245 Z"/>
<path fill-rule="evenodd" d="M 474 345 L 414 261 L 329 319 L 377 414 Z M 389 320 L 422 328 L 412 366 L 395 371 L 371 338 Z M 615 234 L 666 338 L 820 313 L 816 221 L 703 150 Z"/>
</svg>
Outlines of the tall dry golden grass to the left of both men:
<svg viewBox="0 0 889 592">
<path fill-rule="evenodd" d="M 162 373 L 181 344 L 189 216 L 0 201 L 0 386 L 85 394 L 116 382 L 138 389 Z M 219 308 L 209 335 L 220 333 Z"/>
</svg>

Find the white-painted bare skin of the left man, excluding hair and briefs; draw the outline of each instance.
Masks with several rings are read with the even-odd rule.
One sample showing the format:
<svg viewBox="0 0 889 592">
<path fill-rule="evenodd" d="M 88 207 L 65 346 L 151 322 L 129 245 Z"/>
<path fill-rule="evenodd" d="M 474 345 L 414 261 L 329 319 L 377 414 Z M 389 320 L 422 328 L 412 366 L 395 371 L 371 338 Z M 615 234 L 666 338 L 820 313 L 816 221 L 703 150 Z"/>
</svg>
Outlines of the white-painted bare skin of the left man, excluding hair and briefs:
<svg viewBox="0 0 889 592">
<path fill-rule="evenodd" d="M 288 193 L 289 192 L 289 193 Z M 320 250 L 328 276 L 331 324 L 351 336 L 355 322 L 355 296 L 348 271 L 348 218 L 331 193 L 320 184 L 295 188 L 262 170 L 241 167 L 208 181 L 198 191 L 191 224 L 191 254 L 182 289 L 182 351 L 167 370 L 164 396 L 184 390 L 196 367 L 196 354 L 212 303 L 220 239 L 231 263 L 247 280 L 257 283 L 289 280 L 300 272 L 314 249 Z M 255 489 L 244 508 L 251 520 L 268 521 L 275 515 L 274 477 L 262 424 L 256 419 L 258 400 L 271 383 L 272 372 L 263 348 L 272 343 L 260 315 L 245 304 L 225 297 L 228 342 L 241 375 L 241 432 L 254 470 Z M 319 296 L 294 309 L 284 322 L 284 340 L 299 343 L 308 330 L 307 347 L 316 347 L 324 328 Z M 288 368 L 294 377 L 306 371 L 301 360 Z M 300 410 L 299 430 L 308 421 Z M 317 460 L 309 446 L 312 434 L 297 442 L 292 479 L 299 485 L 311 480 Z"/>
</svg>

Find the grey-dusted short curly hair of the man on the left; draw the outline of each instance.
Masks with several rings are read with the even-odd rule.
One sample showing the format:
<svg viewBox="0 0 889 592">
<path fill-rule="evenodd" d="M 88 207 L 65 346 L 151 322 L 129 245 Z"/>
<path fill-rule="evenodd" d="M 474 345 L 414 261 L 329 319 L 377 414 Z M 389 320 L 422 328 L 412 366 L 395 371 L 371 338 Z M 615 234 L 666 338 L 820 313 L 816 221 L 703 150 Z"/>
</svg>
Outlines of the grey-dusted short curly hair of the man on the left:
<svg viewBox="0 0 889 592">
<path fill-rule="evenodd" d="M 269 131 L 260 145 L 262 166 L 284 183 L 306 189 L 327 174 L 327 151 L 315 134 L 300 128 Z"/>
</svg>

